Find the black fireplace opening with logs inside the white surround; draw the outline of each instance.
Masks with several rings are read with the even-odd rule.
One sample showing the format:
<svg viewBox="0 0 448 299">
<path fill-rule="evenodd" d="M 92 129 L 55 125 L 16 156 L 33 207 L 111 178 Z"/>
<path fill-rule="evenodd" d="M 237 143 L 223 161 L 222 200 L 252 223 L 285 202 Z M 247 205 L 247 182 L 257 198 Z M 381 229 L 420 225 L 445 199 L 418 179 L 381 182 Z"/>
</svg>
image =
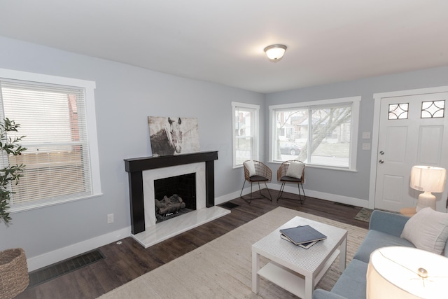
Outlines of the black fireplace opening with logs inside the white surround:
<svg viewBox="0 0 448 299">
<path fill-rule="evenodd" d="M 196 174 L 154 180 L 155 223 L 196 209 Z"/>
</svg>

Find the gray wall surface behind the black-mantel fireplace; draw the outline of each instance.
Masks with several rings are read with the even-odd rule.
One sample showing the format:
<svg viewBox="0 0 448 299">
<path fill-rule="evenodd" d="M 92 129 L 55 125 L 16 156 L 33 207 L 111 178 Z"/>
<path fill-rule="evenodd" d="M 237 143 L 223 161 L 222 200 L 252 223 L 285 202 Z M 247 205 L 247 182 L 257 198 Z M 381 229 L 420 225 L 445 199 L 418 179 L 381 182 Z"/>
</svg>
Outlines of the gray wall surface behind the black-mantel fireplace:
<svg viewBox="0 0 448 299">
<path fill-rule="evenodd" d="M 11 214 L 8 228 L 0 223 L 0 250 L 22 247 L 30 258 L 130 226 L 123 159 L 151 155 L 148 116 L 198 118 L 201 150 L 218 151 L 216 197 L 241 188 L 241 169 L 232 169 L 231 102 L 264 107 L 265 95 L 2 37 L 0 68 L 96 81 L 104 193 L 89 200 Z M 264 115 L 264 108 L 260 113 Z M 261 133 L 264 135 L 263 130 Z M 106 215 L 112 213 L 115 222 L 106 224 Z"/>
</svg>

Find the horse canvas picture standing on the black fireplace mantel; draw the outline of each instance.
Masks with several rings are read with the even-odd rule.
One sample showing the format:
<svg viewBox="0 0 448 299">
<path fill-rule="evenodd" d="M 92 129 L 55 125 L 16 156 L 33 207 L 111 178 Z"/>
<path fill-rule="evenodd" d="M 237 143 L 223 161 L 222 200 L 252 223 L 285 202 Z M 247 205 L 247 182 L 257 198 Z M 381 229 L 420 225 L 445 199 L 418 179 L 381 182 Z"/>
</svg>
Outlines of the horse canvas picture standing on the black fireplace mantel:
<svg viewBox="0 0 448 299">
<path fill-rule="evenodd" d="M 200 151 L 197 118 L 148 116 L 153 157 Z"/>
</svg>

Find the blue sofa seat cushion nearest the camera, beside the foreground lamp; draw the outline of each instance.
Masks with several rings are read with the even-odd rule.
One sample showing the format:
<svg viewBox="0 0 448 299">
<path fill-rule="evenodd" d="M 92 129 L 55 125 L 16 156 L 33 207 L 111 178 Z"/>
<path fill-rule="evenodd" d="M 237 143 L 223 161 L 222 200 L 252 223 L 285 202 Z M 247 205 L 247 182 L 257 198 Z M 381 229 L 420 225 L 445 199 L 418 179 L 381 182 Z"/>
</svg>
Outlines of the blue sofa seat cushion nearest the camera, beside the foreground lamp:
<svg viewBox="0 0 448 299">
<path fill-rule="evenodd" d="M 348 299 L 365 298 L 367 265 L 367 263 L 360 260 L 351 260 L 339 279 L 337 279 L 335 286 L 331 289 L 331 293 L 342 295 Z"/>
</svg>

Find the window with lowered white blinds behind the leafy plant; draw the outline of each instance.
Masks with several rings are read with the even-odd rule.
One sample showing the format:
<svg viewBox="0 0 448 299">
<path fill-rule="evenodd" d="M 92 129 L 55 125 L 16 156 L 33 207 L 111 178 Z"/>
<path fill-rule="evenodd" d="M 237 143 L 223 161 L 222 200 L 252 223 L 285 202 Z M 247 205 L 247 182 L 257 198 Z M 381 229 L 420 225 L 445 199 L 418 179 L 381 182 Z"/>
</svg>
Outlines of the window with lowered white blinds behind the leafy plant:
<svg viewBox="0 0 448 299">
<path fill-rule="evenodd" d="M 94 120 L 94 82 L 0 69 L 1 119 L 20 124 L 8 137 L 25 136 L 25 165 L 10 211 L 43 207 L 101 194 Z"/>
</svg>

